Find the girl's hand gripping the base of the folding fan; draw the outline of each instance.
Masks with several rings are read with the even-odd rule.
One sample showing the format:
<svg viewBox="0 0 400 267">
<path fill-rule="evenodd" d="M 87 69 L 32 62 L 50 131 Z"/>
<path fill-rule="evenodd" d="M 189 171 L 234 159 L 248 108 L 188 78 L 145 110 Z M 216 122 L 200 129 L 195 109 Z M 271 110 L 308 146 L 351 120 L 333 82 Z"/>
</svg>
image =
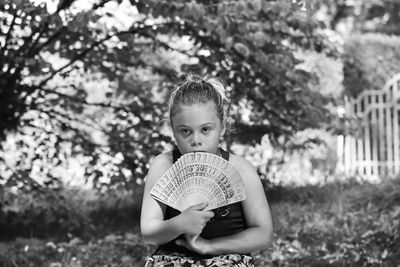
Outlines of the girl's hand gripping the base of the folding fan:
<svg viewBox="0 0 400 267">
<path fill-rule="evenodd" d="M 207 222 L 214 216 L 212 211 L 204 211 L 207 203 L 190 206 L 177 216 L 182 233 L 199 235 Z"/>
</svg>

